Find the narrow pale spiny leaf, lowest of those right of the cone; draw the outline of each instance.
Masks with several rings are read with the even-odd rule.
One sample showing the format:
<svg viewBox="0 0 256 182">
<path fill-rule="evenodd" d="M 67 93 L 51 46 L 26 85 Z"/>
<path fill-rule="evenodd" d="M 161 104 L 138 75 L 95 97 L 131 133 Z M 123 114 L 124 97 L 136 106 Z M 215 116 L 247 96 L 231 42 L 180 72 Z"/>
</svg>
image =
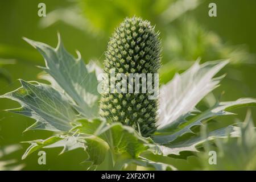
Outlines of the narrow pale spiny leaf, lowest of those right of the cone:
<svg viewBox="0 0 256 182">
<path fill-rule="evenodd" d="M 216 138 L 227 138 L 227 137 L 240 137 L 241 131 L 240 127 L 237 126 L 228 126 L 222 129 L 211 131 L 205 137 L 191 137 L 187 140 L 183 140 L 176 143 L 158 145 L 159 150 L 162 152 L 162 155 L 168 156 L 170 154 L 179 155 L 182 151 L 192 151 L 198 152 L 197 146 L 205 141 L 214 140 Z"/>
</svg>

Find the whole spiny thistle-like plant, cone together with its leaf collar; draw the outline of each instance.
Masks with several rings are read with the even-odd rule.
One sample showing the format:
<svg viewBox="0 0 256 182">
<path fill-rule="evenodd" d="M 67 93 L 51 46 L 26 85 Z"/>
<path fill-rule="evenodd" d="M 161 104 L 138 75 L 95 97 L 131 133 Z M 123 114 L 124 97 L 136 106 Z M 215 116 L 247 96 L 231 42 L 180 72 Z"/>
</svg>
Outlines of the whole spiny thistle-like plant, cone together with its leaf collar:
<svg viewBox="0 0 256 182">
<path fill-rule="evenodd" d="M 133 23 L 135 23 L 134 28 Z M 126 26 L 130 26 L 130 28 Z M 123 31 L 130 31 L 130 33 L 126 32 L 123 35 L 120 32 L 122 27 Z M 141 28 L 142 31 L 140 31 Z M 151 53 L 147 53 L 144 49 L 147 48 L 147 39 L 143 38 L 143 35 L 139 34 L 140 32 L 147 33 L 148 39 L 157 43 L 149 43 L 151 47 L 148 49 L 151 50 Z M 135 71 L 142 71 L 143 68 L 145 72 L 155 73 L 158 71 L 159 40 L 148 22 L 139 18 L 126 19 L 115 34 L 118 37 L 114 36 L 110 40 L 106 53 L 105 72 L 108 72 L 109 68 L 122 68 L 125 72 L 126 65 L 129 66 L 129 71 L 133 71 L 134 63 L 137 65 L 134 68 Z M 136 42 L 139 37 L 142 37 L 140 43 Z M 47 139 L 28 142 L 30 147 L 22 156 L 23 159 L 40 148 L 63 147 L 62 152 L 84 148 L 88 154 L 88 162 L 90 162 L 88 163 L 89 169 L 97 167 L 100 169 L 124 169 L 127 166 L 125 164 L 133 164 L 131 166 L 135 164 L 158 170 L 176 169 L 170 163 L 164 163 L 168 160 L 159 162 L 159 158 L 155 158 L 155 156 L 170 158 L 170 156 L 176 155 L 185 158 L 187 152 L 184 153 L 184 151 L 197 152 L 199 144 L 206 140 L 226 138 L 228 135 L 240 137 L 240 127 L 234 125 L 211 130 L 204 137 L 201 137 L 200 133 L 194 129 L 206 125 L 207 121 L 217 116 L 233 114 L 230 110 L 237 107 L 256 105 L 254 98 L 240 98 L 236 101 L 217 102 L 206 110 L 196 109 L 196 105 L 219 85 L 223 77 L 214 78 L 214 76 L 228 63 L 228 61 L 222 60 L 200 65 L 199 61 L 196 61 L 187 71 L 181 75 L 175 75 L 172 81 L 162 85 L 159 90 L 158 112 L 156 112 L 156 101 L 151 102 L 154 106 L 152 108 L 154 110 L 151 110 L 149 105 L 141 104 L 142 99 L 135 95 L 131 96 L 133 100 L 127 100 L 125 95 L 121 98 L 117 97 L 116 102 L 114 97 L 119 95 L 113 94 L 113 98 L 111 95 L 102 97 L 101 109 L 104 112 L 109 112 L 109 115 L 104 114 L 104 117 L 107 118 L 104 119 L 99 114 L 101 95 L 97 92 L 96 70 L 100 68 L 94 63 L 86 65 L 79 53 L 77 59 L 71 56 L 64 49 L 60 37 L 57 48 L 29 39 L 25 40 L 43 55 L 46 67 L 42 69 L 47 74 L 42 78 L 51 82 L 51 85 L 20 80 L 22 84 L 20 88 L 1 97 L 18 101 L 21 105 L 20 108 L 9 111 L 36 119 L 34 125 L 26 130 L 49 130 L 55 131 L 55 134 Z M 127 48 L 131 47 L 131 53 L 125 44 L 118 45 L 118 40 L 124 43 L 129 42 Z M 132 47 L 133 41 L 135 47 Z M 114 47 L 115 44 L 117 47 Z M 137 49 L 139 55 L 135 57 Z M 123 54 L 123 51 L 126 51 L 127 56 Z M 152 56 L 152 60 L 149 57 L 144 59 L 143 55 Z M 126 62 L 129 56 L 131 57 L 130 61 L 134 63 Z M 118 59 L 114 60 L 115 57 Z M 122 59 L 124 59 L 124 63 L 122 63 Z M 139 69 L 139 65 L 142 69 Z M 122 70 L 118 70 L 117 73 L 121 72 Z M 149 119 L 147 121 L 148 117 L 142 113 L 138 114 L 139 117 L 132 118 L 133 114 L 137 113 L 133 110 L 135 108 L 130 110 L 127 106 L 124 109 L 122 107 L 118 109 L 118 105 L 123 101 L 134 107 L 141 104 L 137 112 L 142 112 L 144 109 L 145 113 L 153 118 L 152 121 Z M 112 110 L 106 109 L 104 105 L 110 104 Z M 117 109 L 117 112 L 115 113 L 113 109 Z M 122 117 L 121 111 L 124 112 L 122 115 L 125 117 Z M 129 122 L 127 122 L 127 118 Z M 142 120 L 139 121 L 139 118 Z M 138 123 L 139 125 L 137 125 Z M 143 127 L 146 129 L 143 130 Z M 155 132 L 153 133 L 153 131 Z M 150 137 L 146 138 L 145 136 Z M 109 158 L 112 160 L 107 160 Z"/>
</svg>

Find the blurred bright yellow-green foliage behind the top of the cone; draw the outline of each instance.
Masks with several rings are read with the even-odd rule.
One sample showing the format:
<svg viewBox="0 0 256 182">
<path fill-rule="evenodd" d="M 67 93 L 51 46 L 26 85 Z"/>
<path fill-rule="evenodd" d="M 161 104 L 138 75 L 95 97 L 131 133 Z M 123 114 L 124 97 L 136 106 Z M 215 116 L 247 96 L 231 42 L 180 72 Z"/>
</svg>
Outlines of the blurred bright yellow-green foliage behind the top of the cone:
<svg viewBox="0 0 256 182">
<path fill-rule="evenodd" d="M 249 53 L 245 45 L 232 46 L 224 43 L 216 32 L 209 31 L 198 23 L 191 11 L 204 2 L 203 0 L 147 2 L 76 0 L 71 6 L 53 10 L 46 18 L 40 20 L 40 25 L 49 27 L 61 21 L 86 35 L 94 35 L 95 39 L 105 41 L 123 18 L 134 14 L 142 16 L 156 24 L 161 31 L 163 66 L 159 71 L 160 84 L 166 84 L 176 72 L 188 69 L 193 64 L 192 61 L 199 57 L 202 63 L 209 60 L 229 59 L 229 68 L 254 63 L 255 55 Z M 95 12 L 101 13 L 95 14 Z M 246 79 L 238 76 L 242 75 L 240 70 L 237 72 L 237 77 L 231 76 L 226 79 L 229 79 L 231 84 L 236 79 L 236 83 L 239 82 L 243 88 L 246 87 Z"/>
</svg>

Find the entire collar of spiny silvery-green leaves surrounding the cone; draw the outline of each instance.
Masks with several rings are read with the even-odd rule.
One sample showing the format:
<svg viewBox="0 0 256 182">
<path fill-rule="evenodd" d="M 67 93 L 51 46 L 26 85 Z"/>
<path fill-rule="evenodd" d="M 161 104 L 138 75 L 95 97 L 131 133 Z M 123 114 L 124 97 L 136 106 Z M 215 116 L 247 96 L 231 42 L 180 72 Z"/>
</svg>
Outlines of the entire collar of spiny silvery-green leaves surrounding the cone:
<svg viewBox="0 0 256 182">
<path fill-rule="evenodd" d="M 85 65 L 80 57 L 73 58 L 61 43 L 54 49 L 26 40 L 44 56 L 46 68 L 43 69 L 47 75 L 43 78 L 51 85 L 20 80 L 22 87 L 1 98 L 18 101 L 22 106 L 10 111 L 36 119 L 28 129 L 57 132 L 47 139 L 28 142 L 30 147 L 23 159 L 40 148 L 62 147 L 61 153 L 82 148 L 88 155 L 89 169 L 129 169 L 130 165 L 158 170 L 176 169 L 170 164 L 146 158 L 144 154 L 182 156 L 182 152 L 198 151 L 197 147 L 205 141 L 226 138 L 228 133 L 230 137 L 239 137 L 244 132 L 240 132 L 238 126 L 213 130 L 204 137 L 191 129 L 200 127 L 213 117 L 232 114 L 229 110 L 255 105 L 253 98 L 240 98 L 232 102 L 217 102 L 208 110 L 199 112 L 196 105 L 219 84 L 222 77 L 213 76 L 227 62 L 214 61 L 202 65 L 196 62 L 191 69 L 177 75 L 160 89 L 163 98 L 160 101 L 159 129 L 151 138 L 144 138 L 132 127 L 122 125 L 122 121 L 109 123 L 97 118 L 100 94 L 96 92 L 98 81 L 95 71 L 101 71 L 93 63 Z M 111 162 L 108 163 L 108 159 Z M 107 167 L 101 166 L 105 163 L 108 163 Z"/>
</svg>

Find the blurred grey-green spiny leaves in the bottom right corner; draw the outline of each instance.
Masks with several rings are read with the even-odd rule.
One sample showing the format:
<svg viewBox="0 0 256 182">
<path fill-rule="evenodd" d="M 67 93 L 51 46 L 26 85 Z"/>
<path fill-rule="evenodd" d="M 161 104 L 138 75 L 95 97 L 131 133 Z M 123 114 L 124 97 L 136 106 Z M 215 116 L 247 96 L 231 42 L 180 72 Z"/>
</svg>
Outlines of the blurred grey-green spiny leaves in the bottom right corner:
<svg viewBox="0 0 256 182">
<path fill-rule="evenodd" d="M 199 155 L 202 164 L 207 170 L 256 170 L 256 128 L 251 118 L 250 110 L 247 112 L 244 122 L 238 121 L 241 137 L 234 139 L 228 137 L 224 140 L 218 139 L 216 147 L 210 142 L 204 144 L 207 149 L 205 153 Z M 206 131 L 202 131 L 202 136 Z M 232 133 L 230 133 L 232 136 Z M 209 165 L 209 151 L 217 151 L 216 165 Z"/>
</svg>

